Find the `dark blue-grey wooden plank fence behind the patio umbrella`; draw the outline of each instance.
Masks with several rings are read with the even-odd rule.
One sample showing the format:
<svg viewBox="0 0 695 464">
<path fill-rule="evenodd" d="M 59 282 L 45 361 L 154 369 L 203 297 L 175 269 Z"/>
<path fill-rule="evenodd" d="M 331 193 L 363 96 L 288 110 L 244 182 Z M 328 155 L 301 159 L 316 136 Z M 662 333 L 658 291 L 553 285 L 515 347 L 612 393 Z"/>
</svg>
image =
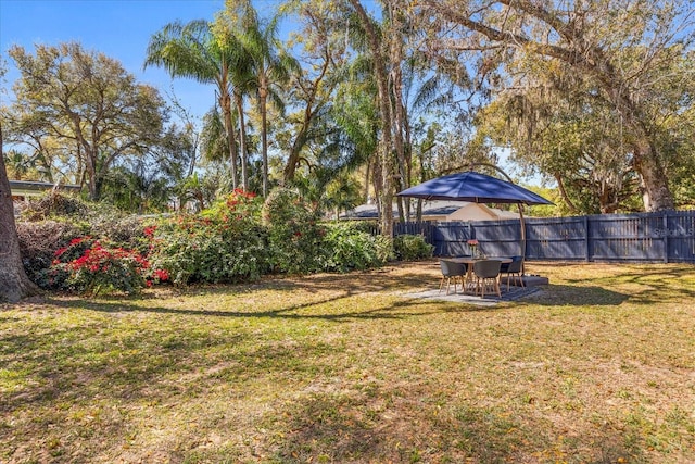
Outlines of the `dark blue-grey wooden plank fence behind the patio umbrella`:
<svg viewBox="0 0 695 464">
<path fill-rule="evenodd" d="M 405 223 L 394 235 L 421 234 L 438 256 L 521 254 L 517 220 Z M 695 211 L 543 217 L 526 221 L 527 260 L 695 263 Z"/>
</svg>

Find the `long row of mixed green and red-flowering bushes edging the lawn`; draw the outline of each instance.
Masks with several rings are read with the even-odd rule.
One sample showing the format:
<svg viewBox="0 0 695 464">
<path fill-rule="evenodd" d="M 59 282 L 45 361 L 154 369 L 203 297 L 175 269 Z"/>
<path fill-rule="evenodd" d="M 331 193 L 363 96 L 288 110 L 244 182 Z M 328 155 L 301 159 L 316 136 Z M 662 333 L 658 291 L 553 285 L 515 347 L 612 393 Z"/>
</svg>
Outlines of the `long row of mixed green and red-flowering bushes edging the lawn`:
<svg viewBox="0 0 695 464">
<path fill-rule="evenodd" d="M 292 191 L 265 202 L 240 190 L 201 214 L 121 216 L 52 193 L 17 222 L 24 265 L 45 289 L 136 293 L 173 283 L 237 283 L 267 274 L 350 272 L 431 256 L 419 236 L 371 236 L 325 223 Z"/>
</svg>

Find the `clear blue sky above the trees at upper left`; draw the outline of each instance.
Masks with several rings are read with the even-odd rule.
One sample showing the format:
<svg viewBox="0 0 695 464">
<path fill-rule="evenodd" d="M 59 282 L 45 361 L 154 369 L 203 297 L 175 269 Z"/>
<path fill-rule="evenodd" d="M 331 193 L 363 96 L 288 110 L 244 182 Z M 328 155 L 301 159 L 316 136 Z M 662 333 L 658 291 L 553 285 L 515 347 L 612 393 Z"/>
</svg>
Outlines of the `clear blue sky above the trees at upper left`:
<svg viewBox="0 0 695 464">
<path fill-rule="evenodd" d="M 269 14 L 277 1 L 254 1 L 261 15 Z M 139 81 L 174 93 L 184 106 L 202 116 L 214 104 L 212 86 L 192 80 L 172 80 L 156 67 L 142 70 L 152 34 L 176 20 L 212 20 L 224 8 L 224 0 L 0 0 L 0 50 L 9 72 L 10 86 L 18 73 L 8 49 L 21 45 L 56 45 L 79 41 L 86 49 L 114 58 Z M 12 95 L 3 95 L 3 101 Z"/>
</svg>

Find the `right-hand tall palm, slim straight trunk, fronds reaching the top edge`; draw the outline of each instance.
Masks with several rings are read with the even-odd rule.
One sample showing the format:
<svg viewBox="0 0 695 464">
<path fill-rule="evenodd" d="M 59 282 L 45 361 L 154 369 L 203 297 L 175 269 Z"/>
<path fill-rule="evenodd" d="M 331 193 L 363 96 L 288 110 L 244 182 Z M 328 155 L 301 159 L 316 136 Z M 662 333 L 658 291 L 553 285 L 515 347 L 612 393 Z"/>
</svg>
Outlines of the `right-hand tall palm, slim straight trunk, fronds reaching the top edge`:
<svg viewBox="0 0 695 464">
<path fill-rule="evenodd" d="M 279 97 L 279 87 L 290 80 L 292 72 L 300 70 L 298 61 L 282 50 L 277 38 L 280 16 L 265 22 L 250 0 L 236 0 L 233 10 L 228 14 L 235 17 L 240 26 L 238 40 L 248 54 L 249 72 L 247 88 L 255 89 L 261 113 L 261 140 L 263 156 L 263 196 L 268 195 L 268 137 L 267 137 L 267 102 L 268 99 L 283 111 L 283 103 Z"/>
</svg>

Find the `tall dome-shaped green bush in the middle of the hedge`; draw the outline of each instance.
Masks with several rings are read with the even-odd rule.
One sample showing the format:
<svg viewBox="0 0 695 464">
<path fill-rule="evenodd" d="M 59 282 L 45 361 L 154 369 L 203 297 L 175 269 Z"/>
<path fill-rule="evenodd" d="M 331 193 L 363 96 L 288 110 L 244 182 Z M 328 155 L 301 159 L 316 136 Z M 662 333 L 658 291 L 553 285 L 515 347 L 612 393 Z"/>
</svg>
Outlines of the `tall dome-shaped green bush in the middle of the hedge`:
<svg viewBox="0 0 695 464">
<path fill-rule="evenodd" d="M 263 221 L 275 272 L 306 274 L 324 267 L 326 229 L 298 193 L 275 189 L 263 205 Z"/>
</svg>

